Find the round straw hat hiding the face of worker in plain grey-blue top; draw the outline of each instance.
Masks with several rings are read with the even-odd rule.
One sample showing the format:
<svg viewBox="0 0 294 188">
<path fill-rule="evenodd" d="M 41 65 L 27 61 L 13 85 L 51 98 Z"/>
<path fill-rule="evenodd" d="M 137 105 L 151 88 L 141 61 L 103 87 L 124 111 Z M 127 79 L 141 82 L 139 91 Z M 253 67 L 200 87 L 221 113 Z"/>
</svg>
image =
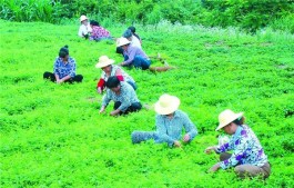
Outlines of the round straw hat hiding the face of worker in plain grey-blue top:
<svg viewBox="0 0 294 188">
<path fill-rule="evenodd" d="M 179 106 L 180 99 L 178 97 L 164 93 L 160 97 L 154 107 L 159 115 L 170 115 L 178 110 Z"/>
</svg>

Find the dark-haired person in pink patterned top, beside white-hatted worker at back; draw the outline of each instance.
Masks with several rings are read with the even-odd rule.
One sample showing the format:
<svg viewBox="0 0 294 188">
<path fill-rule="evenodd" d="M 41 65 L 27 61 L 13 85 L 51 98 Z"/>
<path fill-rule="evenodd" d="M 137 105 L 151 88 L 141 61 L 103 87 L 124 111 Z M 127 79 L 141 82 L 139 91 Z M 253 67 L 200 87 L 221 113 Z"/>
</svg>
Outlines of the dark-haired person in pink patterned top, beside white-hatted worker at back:
<svg viewBox="0 0 294 188">
<path fill-rule="evenodd" d="M 90 40 L 102 40 L 102 39 L 111 39 L 110 32 L 101 27 L 98 21 L 91 20 L 90 26 L 92 28 L 92 33 L 90 36 Z"/>
</svg>

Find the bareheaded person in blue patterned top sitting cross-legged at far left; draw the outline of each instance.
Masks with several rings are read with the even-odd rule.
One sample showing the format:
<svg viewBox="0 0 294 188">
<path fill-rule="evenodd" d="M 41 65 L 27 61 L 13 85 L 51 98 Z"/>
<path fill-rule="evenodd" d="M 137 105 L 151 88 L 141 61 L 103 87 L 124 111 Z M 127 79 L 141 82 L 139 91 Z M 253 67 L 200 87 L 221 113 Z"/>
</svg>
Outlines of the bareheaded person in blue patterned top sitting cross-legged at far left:
<svg viewBox="0 0 294 188">
<path fill-rule="evenodd" d="M 50 79 L 53 82 L 81 82 L 83 76 L 75 75 L 75 60 L 69 56 L 69 47 L 64 46 L 59 50 L 59 57 L 55 59 L 53 73 L 44 72 L 44 79 Z"/>
</svg>

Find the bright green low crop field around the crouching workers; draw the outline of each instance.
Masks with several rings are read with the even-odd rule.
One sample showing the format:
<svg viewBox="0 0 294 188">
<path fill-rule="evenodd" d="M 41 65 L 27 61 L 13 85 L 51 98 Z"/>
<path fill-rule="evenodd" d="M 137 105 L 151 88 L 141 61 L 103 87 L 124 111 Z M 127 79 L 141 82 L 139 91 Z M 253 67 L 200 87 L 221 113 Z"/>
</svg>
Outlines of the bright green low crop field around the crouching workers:
<svg viewBox="0 0 294 188">
<path fill-rule="evenodd" d="M 131 144 L 133 130 L 154 130 L 155 112 L 143 109 L 99 115 L 95 91 L 102 55 L 122 61 L 114 41 L 80 39 L 79 23 L 54 26 L 0 20 L 0 187 L 293 187 L 294 36 L 264 30 L 254 36 L 234 29 L 171 24 L 135 26 L 150 56 L 178 69 L 153 73 L 126 70 L 142 103 L 162 93 L 178 96 L 199 135 L 181 149 L 153 141 Z M 120 37 L 128 26 L 107 29 Z M 55 85 L 59 49 L 69 46 L 82 83 Z M 153 65 L 161 66 L 160 61 Z M 205 155 L 217 142 L 214 129 L 224 109 L 244 111 L 272 165 L 265 181 L 239 179 L 233 169 L 207 169 Z"/>
</svg>

